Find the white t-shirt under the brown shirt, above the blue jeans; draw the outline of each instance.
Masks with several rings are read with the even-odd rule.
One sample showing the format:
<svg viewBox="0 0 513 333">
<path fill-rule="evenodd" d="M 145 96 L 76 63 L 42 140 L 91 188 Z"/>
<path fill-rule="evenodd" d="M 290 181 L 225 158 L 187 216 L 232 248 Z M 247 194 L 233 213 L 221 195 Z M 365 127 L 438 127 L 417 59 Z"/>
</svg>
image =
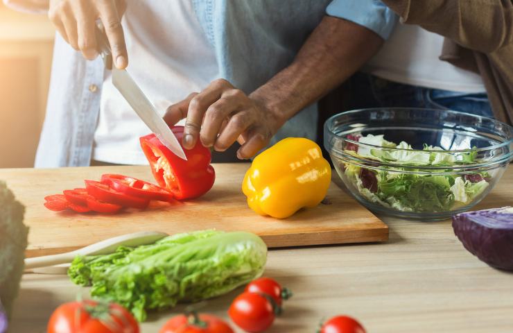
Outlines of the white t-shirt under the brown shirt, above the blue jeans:
<svg viewBox="0 0 513 333">
<path fill-rule="evenodd" d="M 451 90 L 485 92 L 481 77 L 442 61 L 444 37 L 420 26 L 397 24 L 392 36 L 363 71 L 398 83 Z"/>
</svg>

